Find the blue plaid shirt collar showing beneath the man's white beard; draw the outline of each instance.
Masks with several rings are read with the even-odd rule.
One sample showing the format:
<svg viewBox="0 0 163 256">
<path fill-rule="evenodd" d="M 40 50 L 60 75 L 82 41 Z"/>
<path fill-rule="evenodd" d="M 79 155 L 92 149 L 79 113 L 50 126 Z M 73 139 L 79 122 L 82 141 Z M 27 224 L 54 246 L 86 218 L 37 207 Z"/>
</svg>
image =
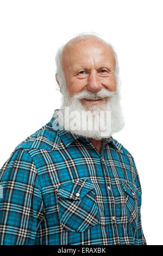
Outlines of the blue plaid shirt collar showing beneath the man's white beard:
<svg viewBox="0 0 163 256">
<path fill-rule="evenodd" d="M 55 129 L 54 127 L 56 127 L 56 117 L 57 117 L 57 112 L 60 109 L 55 109 L 53 117 L 51 119 L 51 124 L 53 129 Z M 68 132 L 66 131 L 64 128 L 60 129 L 55 129 L 55 131 L 58 133 L 59 137 L 61 138 L 61 141 L 64 143 L 65 147 L 68 147 L 73 141 L 77 140 L 78 138 L 80 138 L 80 140 L 82 140 L 85 144 L 90 143 L 90 140 L 87 139 L 84 136 L 79 136 L 79 135 L 75 135 L 74 133 Z M 118 150 L 120 150 L 120 148 L 117 147 L 116 143 L 114 142 L 114 139 L 112 138 L 112 136 L 110 136 L 109 138 L 104 138 L 102 139 L 105 144 L 106 143 L 111 143 L 114 147 L 116 147 Z"/>
</svg>

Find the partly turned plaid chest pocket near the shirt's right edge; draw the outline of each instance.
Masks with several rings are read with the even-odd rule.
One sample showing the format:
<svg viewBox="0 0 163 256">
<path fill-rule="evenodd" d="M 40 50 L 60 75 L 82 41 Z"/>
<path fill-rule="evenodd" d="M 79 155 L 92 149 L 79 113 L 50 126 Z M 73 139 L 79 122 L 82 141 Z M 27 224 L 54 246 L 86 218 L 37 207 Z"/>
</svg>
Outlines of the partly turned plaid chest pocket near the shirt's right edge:
<svg viewBox="0 0 163 256">
<path fill-rule="evenodd" d="M 138 200 L 141 193 L 137 190 L 136 186 L 128 180 L 121 179 L 121 185 L 126 201 L 128 221 L 136 229 L 138 218 Z"/>
</svg>

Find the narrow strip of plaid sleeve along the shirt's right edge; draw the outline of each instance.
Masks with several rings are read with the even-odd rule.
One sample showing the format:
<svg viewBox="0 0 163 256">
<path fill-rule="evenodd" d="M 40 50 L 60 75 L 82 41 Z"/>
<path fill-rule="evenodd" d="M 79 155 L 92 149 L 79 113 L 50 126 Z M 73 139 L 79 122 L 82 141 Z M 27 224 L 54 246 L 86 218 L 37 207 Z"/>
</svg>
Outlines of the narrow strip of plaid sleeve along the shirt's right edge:
<svg viewBox="0 0 163 256">
<path fill-rule="evenodd" d="M 135 166 L 135 162 L 134 162 L 134 166 Z M 137 204 L 137 232 L 135 233 L 135 241 L 137 245 L 147 245 L 146 243 L 146 239 L 145 236 L 143 234 L 143 230 L 142 230 L 142 224 L 141 224 L 141 185 L 140 185 L 140 179 L 139 179 L 139 174 L 137 172 L 136 166 L 135 166 L 135 170 L 136 170 L 136 187 L 140 192 L 140 196 L 138 199 L 138 204 Z"/>
</svg>

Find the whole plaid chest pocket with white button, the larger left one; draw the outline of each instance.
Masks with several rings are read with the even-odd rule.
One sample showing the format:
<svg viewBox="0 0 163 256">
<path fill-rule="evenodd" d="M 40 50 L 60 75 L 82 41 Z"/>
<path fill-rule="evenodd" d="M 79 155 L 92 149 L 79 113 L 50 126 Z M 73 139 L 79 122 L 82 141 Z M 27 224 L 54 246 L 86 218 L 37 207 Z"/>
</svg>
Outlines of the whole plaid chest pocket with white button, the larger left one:
<svg viewBox="0 0 163 256">
<path fill-rule="evenodd" d="M 61 185 L 57 196 L 64 230 L 83 232 L 98 224 L 100 216 L 91 180 L 81 179 Z"/>
</svg>

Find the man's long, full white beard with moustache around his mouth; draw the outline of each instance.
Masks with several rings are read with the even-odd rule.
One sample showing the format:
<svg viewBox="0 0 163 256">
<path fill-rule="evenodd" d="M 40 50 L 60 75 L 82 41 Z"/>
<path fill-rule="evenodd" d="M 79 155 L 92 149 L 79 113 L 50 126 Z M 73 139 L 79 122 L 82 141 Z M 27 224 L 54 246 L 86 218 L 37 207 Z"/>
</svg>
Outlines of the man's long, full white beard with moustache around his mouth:
<svg viewBox="0 0 163 256">
<path fill-rule="evenodd" d="M 81 102 L 81 99 L 95 97 L 106 97 L 106 103 L 87 107 Z M 113 133 L 121 131 L 124 126 L 118 90 L 110 92 L 108 89 L 102 89 L 97 93 L 83 91 L 70 96 L 66 89 L 56 120 L 60 129 L 64 128 L 76 135 L 97 140 L 109 138 Z"/>
</svg>

